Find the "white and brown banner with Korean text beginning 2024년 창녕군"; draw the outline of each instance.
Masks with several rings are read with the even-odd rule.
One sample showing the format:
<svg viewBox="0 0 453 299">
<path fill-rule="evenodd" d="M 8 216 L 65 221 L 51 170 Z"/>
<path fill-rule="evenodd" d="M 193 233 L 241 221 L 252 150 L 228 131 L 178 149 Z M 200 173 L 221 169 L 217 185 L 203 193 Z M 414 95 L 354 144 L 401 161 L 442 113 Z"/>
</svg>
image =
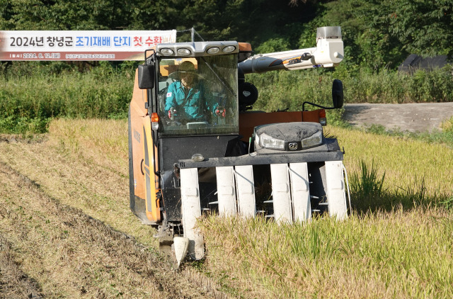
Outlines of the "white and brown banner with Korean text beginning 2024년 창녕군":
<svg viewBox="0 0 453 299">
<path fill-rule="evenodd" d="M 144 60 L 159 43 L 176 43 L 176 30 L 0 31 L 0 61 Z"/>
</svg>

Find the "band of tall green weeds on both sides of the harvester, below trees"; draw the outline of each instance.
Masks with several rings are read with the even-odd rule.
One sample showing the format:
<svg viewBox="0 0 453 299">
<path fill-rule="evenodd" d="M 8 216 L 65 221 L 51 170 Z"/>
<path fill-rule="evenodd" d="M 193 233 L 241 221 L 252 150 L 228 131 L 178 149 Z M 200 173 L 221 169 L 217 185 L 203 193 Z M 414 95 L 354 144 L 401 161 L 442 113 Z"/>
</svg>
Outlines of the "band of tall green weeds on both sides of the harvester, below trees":
<svg viewBox="0 0 453 299">
<path fill-rule="evenodd" d="M 52 118 L 127 118 L 133 63 L 0 64 L 0 133 L 46 132 Z M 345 103 L 453 101 L 452 67 L 413 76 L 382 70 L 370 74 L 336 69 L 249 74 L 259 98 L 256 110 L 302 109 L 304 101 L 331 106 L 333 79 L 341 79 Z M 306 108 L 311 108 L 306 106 Z M 342 125 L 343 110 L 327 111 L 329 123 Z M 435 137 L 440 138 L 440 137 Z"/>
</svg>

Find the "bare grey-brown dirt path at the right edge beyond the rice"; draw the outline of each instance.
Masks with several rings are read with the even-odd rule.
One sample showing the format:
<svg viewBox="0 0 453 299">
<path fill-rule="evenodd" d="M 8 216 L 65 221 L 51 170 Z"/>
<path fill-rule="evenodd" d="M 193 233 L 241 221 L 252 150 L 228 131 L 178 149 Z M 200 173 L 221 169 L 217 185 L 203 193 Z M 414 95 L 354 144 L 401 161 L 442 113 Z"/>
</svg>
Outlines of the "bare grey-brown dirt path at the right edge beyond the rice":
<svg viewBox="0 0 453 299">
<path fill-rule="evenodd" d="M 343 118 L 353 126 L 383 125 L 386 129 L 430 132 L 453 117 L 453 103 L 373 104 L 345 105 Z"/>
</svg>

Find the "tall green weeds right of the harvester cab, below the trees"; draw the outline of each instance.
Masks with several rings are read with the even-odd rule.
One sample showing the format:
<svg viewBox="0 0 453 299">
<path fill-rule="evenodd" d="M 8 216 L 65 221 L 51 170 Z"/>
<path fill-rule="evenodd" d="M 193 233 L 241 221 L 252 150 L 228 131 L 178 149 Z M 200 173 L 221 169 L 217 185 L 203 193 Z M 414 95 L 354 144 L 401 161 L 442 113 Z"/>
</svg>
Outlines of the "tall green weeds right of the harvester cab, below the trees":
<svg viewBox="0 0 453 299">
<path fill-rule="evenodd" d="M 304 101 L 331 104 L 333 79 L 343 81 L 345 103 L 419 103 L 453 101 L 452 67 L 414 75 L 386 69 L 370 74 L 336 69 L 306 69 L 295 72 L 268 72 L 246 77 L 258 87 L 255 108 L 266 111 L 302 108 Z M 331 119 L 331 118 L 329 118 Z"/>
</svg>

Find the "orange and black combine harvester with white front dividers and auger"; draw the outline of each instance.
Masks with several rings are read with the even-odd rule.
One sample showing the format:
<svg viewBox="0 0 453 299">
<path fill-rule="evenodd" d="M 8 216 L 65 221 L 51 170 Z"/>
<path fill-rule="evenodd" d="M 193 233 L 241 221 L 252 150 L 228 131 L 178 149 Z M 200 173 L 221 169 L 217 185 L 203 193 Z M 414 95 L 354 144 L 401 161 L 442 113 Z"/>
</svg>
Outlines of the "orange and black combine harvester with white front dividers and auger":
<svg viewBox="0 0 453 299">
<path fill-rule="evenodd" d="M 252 57 L 248 43 L 173 43 L 144 59 L 129 111 L 130 208 L 156 226 L 161 249 L 174 243 L 178 263 L 186 252 L 204 256 L 195 224 L 205 212 L 282 223 L 348 217 L 343 152 L 321 126 L 324 109 L 343 106 L 341 81 L 333 81 L 333 107 L 305 102 L 299 112 L 264 113 L 249 111 L 258 91 L 244 77 L 335 67 L 343 60 L 340 27 L 318 28 L 316 47 L 301 50 Z M 186 72 L 194 95 L 169 108 L 171 84 Z M 306 104 L 319 109 L 305 111 Z"/>
</svg>

